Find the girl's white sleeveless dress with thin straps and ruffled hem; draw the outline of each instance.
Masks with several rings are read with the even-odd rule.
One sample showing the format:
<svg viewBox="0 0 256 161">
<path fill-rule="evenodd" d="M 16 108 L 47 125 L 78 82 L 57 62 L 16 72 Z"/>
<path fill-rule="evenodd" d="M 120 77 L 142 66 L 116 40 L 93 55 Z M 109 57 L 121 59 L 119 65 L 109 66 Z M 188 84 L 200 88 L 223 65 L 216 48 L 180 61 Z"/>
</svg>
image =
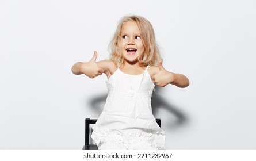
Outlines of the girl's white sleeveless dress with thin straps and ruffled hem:
<svg viewBox="0 0 256 161">
<path fill-rule="evenodd" d="M 165 132 L 152 114 L 155 85 L 148 67 L 140 75 L 125 74 L 117 68 L 106 85 L 106 104 L 91 135 L 98 148 L 163 149 Z"/>
</svg>

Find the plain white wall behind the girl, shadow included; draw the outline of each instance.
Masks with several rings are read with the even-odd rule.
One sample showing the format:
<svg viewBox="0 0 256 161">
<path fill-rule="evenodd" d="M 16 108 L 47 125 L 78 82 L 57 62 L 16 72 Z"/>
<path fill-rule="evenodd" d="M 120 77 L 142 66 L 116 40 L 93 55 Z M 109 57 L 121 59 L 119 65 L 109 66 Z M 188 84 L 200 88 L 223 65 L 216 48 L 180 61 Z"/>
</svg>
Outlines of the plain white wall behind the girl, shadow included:
<svg viewBox="0 0 256 161">
<path fill-rule="evenodd" d="M 0 1 L 0 149 L 81 149 L 106 76 L 75 62 L 108 59 L 121 17 L 155 29 L 166 70 L 188 76 L 152 97 L 167 149 L 256 148 L 255 1 Z"/>
</svg>

